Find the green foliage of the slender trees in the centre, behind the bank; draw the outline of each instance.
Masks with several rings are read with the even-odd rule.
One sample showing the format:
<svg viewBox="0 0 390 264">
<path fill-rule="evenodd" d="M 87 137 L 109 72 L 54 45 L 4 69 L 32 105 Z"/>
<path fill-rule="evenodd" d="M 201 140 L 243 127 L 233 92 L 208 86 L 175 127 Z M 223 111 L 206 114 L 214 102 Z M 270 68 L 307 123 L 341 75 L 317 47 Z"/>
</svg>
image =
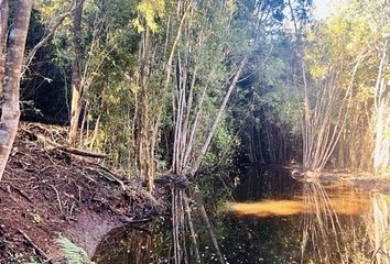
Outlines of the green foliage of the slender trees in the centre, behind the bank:
<svg viewBox="0 0 390 264">
<path fill-rule="evenodd" d="M 163 109 L 163 114 L 158 120 L 160 123 L 155 124 L 155 128 L 161 124 L 156 133 L 155 164 L 160 164 L 161 168 L 170 166 L 171 136 L 175 124 L 173 106 L 177 103 L 177 74 L 181 70 L 178 65 L 187 72 L 184 84 L 186 95 L 194 72 L 197 70 L 194 76 L 193 108 L 187 110 L 189 123 L 194 122 L 196 106 L 206 89 L 194 139 L 194 153 L 198 153 L 197 150 L 202 147 L 231 76 L 247 54 L 250 54 L 250 63 L 243 70 L 243 80 L 240 84 L 245 88 L 237 97 L 242 99 L 251 94 L 252 110 L 267 108 L 269 119 L 280 123 L 288 122 L 293 110 L 299 109 L 293 106 L 295 100 L 285 100 L 293 94 L 291 90 L 282 91 L 282 80 L 289 65 L 284 55 L 277 55 L 284 48 L 279 45 L 285 45 L 275 41 L 275 32 L 281 29 L 284 19 L 284 1 L 192 2 L 172 65 L 169 65 L 172 68 L 170 84 L 167 90 L 163 91 L 170 48 L 175 41 L 182 15 L 187 10 L 187 3 L 163 0 L 86 0 L 84 3 L 80 66 L 85 70 L 83 84 L 88 86 L 88 95 L 83 102 L 86 111 L 84 132 L 88 134 L 84 138 L 83 146 L 109 153 L 108 162 L 130 170 L 130 174 L 136 174 L 137 170 L 140 116 L 147 111 L 142 105 L 144 95 L 148 96 L 150 116 L 159 112 L 158 109 Z M 42 16 L 42 23 L 47 26 L 55 21 L 51 18 L 62 14 L 69 8 L 69 3 L 40 0 L 35 8 Z M 263 19 L 260 20 L 260 16 Z M 67 97 L 73 61 L 71 40 L 72 18 L 55 33 L 48 55 L 65 78 Z M 144 44 L 150 47 L 147 53 L 143 53 Z M 272 52 L 274 46 L 278 46 L 278 52 Z M 269 55 L 271 57 L 268 59 Z M 143 70 L 148 72 L 145 81 L 142 79 Z M 245 75 L 253 76 L 252 86 L 243 84 L 247 77 Z M 260 99 L 264 90 L 273 92 Z M 237 112 L 235 109 L 246 108 L 241 101 L 230 107 L 231 113 Z M 280 113 L 277 113 L 279 110 Z M 234 118 L 239 117 L 231 117 L 230 112 L 224 116 L 204 164 L 210 165 L 226 153 L 231 154 L 240 143 L 236 136 L 239 127 L 235 127 L 237 123 Z M 254 117 L 253 120 L 256 119 L 261 118 Z"/>
</svg>

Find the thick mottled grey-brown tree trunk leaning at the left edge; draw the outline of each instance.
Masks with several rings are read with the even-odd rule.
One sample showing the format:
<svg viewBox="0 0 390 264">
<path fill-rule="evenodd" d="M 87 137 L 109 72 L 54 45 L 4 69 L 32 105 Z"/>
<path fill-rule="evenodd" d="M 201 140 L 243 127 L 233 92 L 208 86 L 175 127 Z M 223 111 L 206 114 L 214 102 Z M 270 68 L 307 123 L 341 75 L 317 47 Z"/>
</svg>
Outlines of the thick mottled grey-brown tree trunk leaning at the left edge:
<svg viewBox="0 0 390 264">
<path fill-rule="evenodd" d="M 0 179 L 18 132 L 19 86 L 32 3 L 32 0 L 15 2 L 13 25 L 9 35 L 0 123 Z"/>
</svg>

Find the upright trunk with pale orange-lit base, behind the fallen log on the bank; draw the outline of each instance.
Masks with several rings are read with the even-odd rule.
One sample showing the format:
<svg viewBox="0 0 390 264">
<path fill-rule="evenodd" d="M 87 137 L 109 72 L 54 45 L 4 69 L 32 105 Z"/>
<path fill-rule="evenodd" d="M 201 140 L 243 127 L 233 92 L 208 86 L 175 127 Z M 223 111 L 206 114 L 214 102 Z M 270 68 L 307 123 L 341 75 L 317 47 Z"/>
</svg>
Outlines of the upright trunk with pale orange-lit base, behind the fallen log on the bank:
<svg viewBox="0 0 390 264">
<path fill-rule="evenodd" d="M 84 0 L 77 0 L 77 8 L 73 11 L 73 53 L 72 62 L 72 105 L 71 105 L 71 128 L 69 143 L 75 145 L 77 140 L 77 131 L 79 117 L 82 113 L 83 90 L 82 90 L 82 73 L 80 73 L 80 29 Z"/>
</svg>

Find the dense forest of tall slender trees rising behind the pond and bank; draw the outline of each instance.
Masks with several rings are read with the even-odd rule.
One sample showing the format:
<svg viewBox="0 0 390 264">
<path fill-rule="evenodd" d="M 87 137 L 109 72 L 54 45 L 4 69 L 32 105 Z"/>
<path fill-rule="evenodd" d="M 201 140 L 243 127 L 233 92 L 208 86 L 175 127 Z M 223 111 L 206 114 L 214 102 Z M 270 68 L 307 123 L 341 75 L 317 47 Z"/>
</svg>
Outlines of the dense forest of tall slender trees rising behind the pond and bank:
<svg viewBox="0 0 390 264">
<path fill-rule="evenodd" d="M 123 189 L 159 197 L 173 183 L 174 263 L 202 258 L 185 252 L 198 243 L 188 201 L 226 263 L 203 190 L 216 169 L 390 176 L 390 2 L 317 12 L 312 0 L 0 0 L 0 174 L 29 134 L 109 167 Z"/>
</svg>

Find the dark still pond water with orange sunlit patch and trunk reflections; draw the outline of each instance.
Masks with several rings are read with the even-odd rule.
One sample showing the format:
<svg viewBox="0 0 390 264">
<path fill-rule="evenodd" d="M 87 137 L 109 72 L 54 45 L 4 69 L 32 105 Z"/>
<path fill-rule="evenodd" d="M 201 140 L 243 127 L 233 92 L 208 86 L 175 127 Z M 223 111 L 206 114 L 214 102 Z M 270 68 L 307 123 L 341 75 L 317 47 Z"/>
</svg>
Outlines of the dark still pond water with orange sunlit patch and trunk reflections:
<svg viewBox="0 0 390 264">
<path fill-rule="evenodd" d="M 234 197 L 212 184 L 206 198 L 227 263 L 389 263 L 386 196 L 335 182 L 299 183 L 281 167 L 249 167 L 236 182 Z M 196 218 L 194 224 L 202 263 L 218 263 L 204 226 Z M 187 245 L 195 263 L 189 238 Z M 170 219 L 162 219 L 112 230 L 94 261 L 174 263 L 172 255 Z"/>
</svg>

